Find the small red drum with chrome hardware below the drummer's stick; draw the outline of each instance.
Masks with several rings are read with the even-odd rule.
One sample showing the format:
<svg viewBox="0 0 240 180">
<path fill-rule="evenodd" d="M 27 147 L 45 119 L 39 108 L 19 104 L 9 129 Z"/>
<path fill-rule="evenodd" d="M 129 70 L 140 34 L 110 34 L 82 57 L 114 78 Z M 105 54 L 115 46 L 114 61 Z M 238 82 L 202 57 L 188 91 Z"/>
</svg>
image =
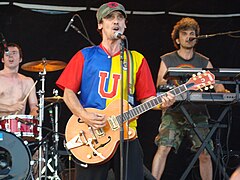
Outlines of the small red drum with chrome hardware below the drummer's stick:
<svg viewBox="0 0 240 180">
<path fill-rule="evenodd" d="M 14 133 L 25 140 L 34 140 L 38 136 L 38 120 L 32 115 L 9 115 L 2 117 L 0 128 Z"/>
</svg>

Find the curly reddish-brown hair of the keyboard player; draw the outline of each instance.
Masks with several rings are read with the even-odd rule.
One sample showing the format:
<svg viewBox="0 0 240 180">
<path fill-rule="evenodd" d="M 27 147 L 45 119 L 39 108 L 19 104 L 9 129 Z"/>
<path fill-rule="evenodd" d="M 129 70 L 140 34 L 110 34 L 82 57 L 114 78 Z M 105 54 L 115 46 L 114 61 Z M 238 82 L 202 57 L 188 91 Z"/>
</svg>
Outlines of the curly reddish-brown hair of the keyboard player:
<svg viewBox="0 0 240 180">
<path fill-rule="evenodd" d="M 180 30 L 188 30 L 188 29 L 193 29 L 196 33 L 196 36 L 198 36 L 200 34 L 200 27 L 199 27 L 197 21 L 193 18 L 189 18 L 189 17 L 182 18 L 173 27 L 171 37 L 172 37 L 174 46 L 177 49 L 179 49 L 179 45 L 176 43 L 176 39 L 179 38 L 179 31 Z"/>
</svg>

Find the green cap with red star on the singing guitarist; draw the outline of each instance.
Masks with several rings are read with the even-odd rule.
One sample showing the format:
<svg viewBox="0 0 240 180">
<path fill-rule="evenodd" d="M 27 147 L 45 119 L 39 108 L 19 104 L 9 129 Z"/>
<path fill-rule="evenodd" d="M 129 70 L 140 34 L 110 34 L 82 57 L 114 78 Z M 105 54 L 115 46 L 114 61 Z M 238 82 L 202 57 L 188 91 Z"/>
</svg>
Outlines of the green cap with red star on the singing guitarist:
<svg viewBox="0 0 240 180">
<path fill-rule="evenodd" d="M 125 16 L 125 18 L 127 17 L 127 14 L 126 14 L 126 11 L 125 11 L 125 8 L 123 7 L 123 5 L 121 5 L 117 2 L 108 2 L 108 3 L 101 5 L 97 11 L 96 16 L 97 16 L 98 23 L 100 23 L 102 18 L 106 17 L 113 11 L 120 11 Z"/>
</svg>

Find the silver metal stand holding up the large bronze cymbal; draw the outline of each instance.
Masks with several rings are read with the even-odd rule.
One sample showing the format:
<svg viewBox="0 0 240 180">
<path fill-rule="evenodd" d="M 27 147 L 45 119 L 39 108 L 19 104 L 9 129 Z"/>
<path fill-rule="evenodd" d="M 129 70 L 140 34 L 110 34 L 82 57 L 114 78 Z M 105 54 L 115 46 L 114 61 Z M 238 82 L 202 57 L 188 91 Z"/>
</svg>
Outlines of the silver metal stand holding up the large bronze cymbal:
<svg viewBox="0 0 240 180">
<path fill-rule="evenodd" d="M 41 77 L 40 81 L 41 81 L 41 90 L 38 91 L 38 95 L 39 95 L 39 134 L 38 134 L 38 140 L 41 143 L 42 141 L 42 123 L 44 120 L 44 93 L 45 93 L 45 76 L 46 76 L 46 68 L 45 68 L 45 64 L 46 61 L 43 59 L 43 64 L 44 64 L 44 68 L 43 68 L 43 72 L 39 72 L 39 76 Z M 38 151 L 38 178 L 39 180 L 41 180 L 41 172 L 42 172 L 42 145 L 39 146 L 39 151 Z"/>
</svg>

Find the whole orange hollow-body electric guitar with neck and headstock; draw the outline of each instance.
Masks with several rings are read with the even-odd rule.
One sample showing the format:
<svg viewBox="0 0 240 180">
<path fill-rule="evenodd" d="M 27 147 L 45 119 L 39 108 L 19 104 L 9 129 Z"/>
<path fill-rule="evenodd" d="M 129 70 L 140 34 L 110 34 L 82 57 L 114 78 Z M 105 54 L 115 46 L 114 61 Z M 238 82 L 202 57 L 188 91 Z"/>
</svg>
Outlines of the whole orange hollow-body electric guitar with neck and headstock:
<svg viewBox="0 0 240 180">
<path fill-rule="evenodd" d="M 215 76 L 209 72 L 198 73 L 191 77 L 185 84 L 182 84 L 170 92 L 178 96 L 188 90 L 201 90 L 215 83 Z M 129 122 L 136 119 L 142 113 L 162 103 L 163 93 L 147 102 L 134 108 L 123 102 L 123 118 L 121 115 L 121 100 L 114 100 L 104 110 L 86 108 L 89 112 L 105 114 L 107 125 L 104 128 L 93 129 L 81 121 L 75 115 L 69 119 L 66 130 L 66 147 L 80 161 L 88 164 L 98 164 L 108 161 L 115 153 L 120 141 L 120 127 L 123 121 L 124 139 L 133 140 L 136 132 L 128 126 Z"/>
</svg>

